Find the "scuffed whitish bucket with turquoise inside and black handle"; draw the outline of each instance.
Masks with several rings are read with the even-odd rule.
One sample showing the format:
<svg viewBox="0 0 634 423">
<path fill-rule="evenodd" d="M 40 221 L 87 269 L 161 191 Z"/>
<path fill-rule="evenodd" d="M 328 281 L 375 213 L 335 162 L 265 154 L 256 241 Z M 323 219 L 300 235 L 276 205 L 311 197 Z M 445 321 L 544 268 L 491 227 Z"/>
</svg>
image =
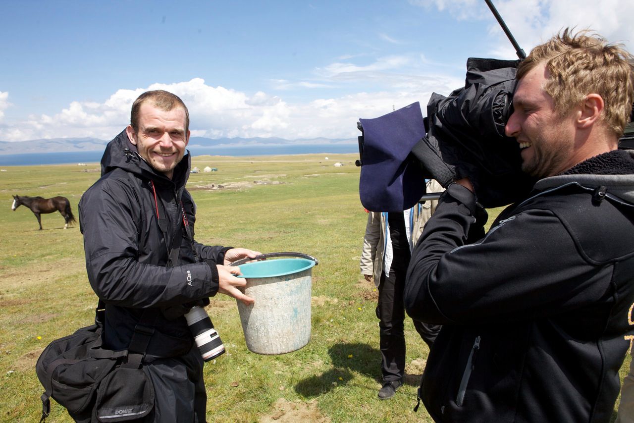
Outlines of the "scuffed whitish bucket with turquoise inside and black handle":
<svg viewBox="0 0 634 423">
<path fill-rule="evenodd" d="M 285 257 L 270 259 L 271 257 Z M 243 292 L 255 299 L 237 301 L 247 348 L 257 354 L 290 353 L 311 338 L 311 271 L 317 259 L 306 254 L 262 254 L 262 261 L 237 261 L 247 279 Z"/>
</svg>

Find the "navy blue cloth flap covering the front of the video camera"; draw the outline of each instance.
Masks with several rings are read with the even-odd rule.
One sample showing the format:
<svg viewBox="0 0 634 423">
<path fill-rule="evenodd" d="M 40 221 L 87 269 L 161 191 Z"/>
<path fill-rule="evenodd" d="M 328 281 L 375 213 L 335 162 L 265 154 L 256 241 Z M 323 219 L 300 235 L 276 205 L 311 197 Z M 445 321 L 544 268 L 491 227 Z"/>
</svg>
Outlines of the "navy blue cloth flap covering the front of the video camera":
<svg viewBox="0 0 634 423">
<path fill-rule="evenodd" d="M 375 212 L 410 209 L 425 193 L 423 171 L 408 159 L 411 148 L 425 136 L 420 103 L 359 122 L 363 127 L 361 204 Z"/>
</svg>

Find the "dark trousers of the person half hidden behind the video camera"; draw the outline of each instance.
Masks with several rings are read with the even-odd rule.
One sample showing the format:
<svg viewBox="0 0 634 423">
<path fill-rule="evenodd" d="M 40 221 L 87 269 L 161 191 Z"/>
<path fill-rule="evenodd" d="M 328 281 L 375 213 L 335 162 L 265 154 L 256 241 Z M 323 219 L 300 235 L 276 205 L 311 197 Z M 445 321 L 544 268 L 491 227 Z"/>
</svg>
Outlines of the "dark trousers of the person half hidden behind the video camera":
<svg viewBox="0 0 634 423">
<path fill-rule="evenodd" d="M 380 328 L 381 370 L 385 382 L 400 381 L 405 372 L 403 287 L 407 264 L 403 263 L 404 260 L 400 262 L 398 259 L 395 260 L 389 275 L 386 276 L 383 272 L 378 284 L 377 317 Z M 431 348 L 441 325 L 430 325 L 417 320 L 413 322 L 418 334 Z"/>
</svg>

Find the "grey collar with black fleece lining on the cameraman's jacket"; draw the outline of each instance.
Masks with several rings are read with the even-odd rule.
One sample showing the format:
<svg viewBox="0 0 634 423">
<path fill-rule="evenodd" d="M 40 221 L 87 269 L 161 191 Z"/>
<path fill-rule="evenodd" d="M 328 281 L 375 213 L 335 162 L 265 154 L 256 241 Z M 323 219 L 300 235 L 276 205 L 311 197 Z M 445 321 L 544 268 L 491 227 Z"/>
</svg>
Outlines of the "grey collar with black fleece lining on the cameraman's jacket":
<svg viewBox="0 0 634 423">
<path fill-rule="evenodd" d="M 615 150 L 620 154 L 626 154 L 626 159 L 634 162 L 634 150 Z M 610 154 L 610 153 L 605 153 Z M 602 155 L 593 157 L 593 160 L 600 158 Z M 588 161 L 586 160 L 586 161 Z M 582 162 L 583 164 L 583 162 Z M 578 165 L 579 166 L 579 165 Z M 628 164 L 626 164 L 628 166 Z M 575 166 L 577 167 L 577 166 Z M 573 167 L 574 169 L 574 167 Z M 572 169 L 571 169 L 572 170 Z M 607 188 L 607 192 L 621 198 L 622 200 L 634 204 L 634 173 L 625 171 L 623 174 L 590 174 L 590 173 L 568 173 L 548 178 L 540 179 L 534 188 L 535 190 L 545 191 L 567 183 L 578 183 L 588 188 L 597 188 L 603 185 Z"/>
</svg>

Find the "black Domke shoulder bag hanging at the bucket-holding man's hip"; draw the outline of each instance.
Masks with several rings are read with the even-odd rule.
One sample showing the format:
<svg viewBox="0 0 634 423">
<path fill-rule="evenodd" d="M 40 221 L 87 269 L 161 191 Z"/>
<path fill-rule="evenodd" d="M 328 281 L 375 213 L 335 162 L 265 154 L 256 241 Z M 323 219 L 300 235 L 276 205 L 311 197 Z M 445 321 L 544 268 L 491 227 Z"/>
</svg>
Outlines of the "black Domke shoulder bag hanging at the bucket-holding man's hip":
<svg viewBox="0 0 634 423">
<path fill-rule="evenodd" d="M 148 415 L 154 407 L 154 389 L 141 365 L 158 312 L 143 311 L 127 350 L 101 348 L 105 317 L 101 300 L 94 325 L 51 342 L 36 364 L 45 389 L 40 422 L 51 411 L 51 397 L 77 422 L 122 422 Z"/>
</svg>

